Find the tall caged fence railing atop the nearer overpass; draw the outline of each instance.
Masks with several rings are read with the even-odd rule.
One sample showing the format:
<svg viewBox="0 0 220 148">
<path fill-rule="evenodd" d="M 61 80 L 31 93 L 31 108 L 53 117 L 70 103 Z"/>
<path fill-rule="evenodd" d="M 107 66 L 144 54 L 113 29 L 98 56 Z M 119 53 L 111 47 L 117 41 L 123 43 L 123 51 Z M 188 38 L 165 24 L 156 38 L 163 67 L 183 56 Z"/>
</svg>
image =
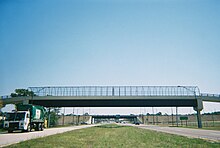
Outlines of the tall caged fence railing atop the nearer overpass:
<svg viewBox="0 0 220 148">
<path fill-rule="evenodd" d="M 196 86 L 29 87 L 37 96 L 199 96 Z"/>
</svg>

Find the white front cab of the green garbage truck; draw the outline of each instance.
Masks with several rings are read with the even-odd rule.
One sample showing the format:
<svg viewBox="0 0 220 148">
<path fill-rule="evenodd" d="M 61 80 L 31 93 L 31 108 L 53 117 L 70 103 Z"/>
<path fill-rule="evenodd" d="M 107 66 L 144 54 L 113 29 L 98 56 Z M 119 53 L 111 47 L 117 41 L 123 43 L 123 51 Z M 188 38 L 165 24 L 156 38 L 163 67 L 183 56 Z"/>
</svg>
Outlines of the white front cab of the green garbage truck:
<svg viewBox="0 0 220 148">
<path fill-rule="evenodd" d="M 5 116 L 3 126 L 8 130 L 9 133 L 13 132 L 14 130 L 30 131 L 30 112 L 8 112 Z"/>
</svg>

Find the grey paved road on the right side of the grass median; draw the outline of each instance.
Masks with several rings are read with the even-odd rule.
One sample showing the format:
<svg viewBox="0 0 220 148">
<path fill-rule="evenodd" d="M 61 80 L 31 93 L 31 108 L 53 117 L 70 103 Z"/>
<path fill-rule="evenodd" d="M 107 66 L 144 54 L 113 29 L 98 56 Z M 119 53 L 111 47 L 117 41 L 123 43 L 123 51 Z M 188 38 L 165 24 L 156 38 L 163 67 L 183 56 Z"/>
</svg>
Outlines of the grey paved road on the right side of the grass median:
<svg viewBox="0 0 220 148">
<path fill-rule="evenodd" d="M 220 131 L 216 131 L 216 130 L 203 130 L 203 129 L 191 129 L 191 128 L 179 128 L 179 127 L 160 127 L 160 126 L 152 126 L 152 125 L 139 125 L 137 127 L 143 129 L 155 130 L 159 132 L 181 135 L 181 136 L 187 136 L 191 138 L 201 138 L 201 139 L 220 142 Z"/>
</svg>

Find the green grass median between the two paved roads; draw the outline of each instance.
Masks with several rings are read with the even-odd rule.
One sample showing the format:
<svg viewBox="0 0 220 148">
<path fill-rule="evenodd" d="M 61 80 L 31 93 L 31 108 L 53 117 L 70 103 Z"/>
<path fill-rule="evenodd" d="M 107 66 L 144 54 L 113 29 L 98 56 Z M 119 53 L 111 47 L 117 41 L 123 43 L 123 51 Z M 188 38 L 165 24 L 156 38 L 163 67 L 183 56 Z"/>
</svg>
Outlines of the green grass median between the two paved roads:
<svg viewBox="0 0 220 148">
<path fill-rule="evenodd" d="M 152 148 L 152 147 L 219 147 L 201 139 L 165 134 L 136 127 L 115 124 L 75 130 L 8 146 L 16 147 L 73 147 L 73 148 Z"/>
</svg>

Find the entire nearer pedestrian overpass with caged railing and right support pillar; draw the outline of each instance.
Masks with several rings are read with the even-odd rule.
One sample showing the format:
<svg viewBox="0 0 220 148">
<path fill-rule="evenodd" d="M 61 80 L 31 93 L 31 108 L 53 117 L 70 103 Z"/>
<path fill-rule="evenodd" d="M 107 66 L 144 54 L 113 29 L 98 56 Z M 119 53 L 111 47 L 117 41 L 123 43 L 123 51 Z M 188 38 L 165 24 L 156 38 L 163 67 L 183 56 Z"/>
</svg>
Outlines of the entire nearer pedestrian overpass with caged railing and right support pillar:
<svg viewBox="0 0 220 148">
<path fill-rule="evenodd" d="M 6 96 L 2 102 L 45 107 L 193 107 L 199 127 L 202 102 L 220 102 L 220 95 L 200 93 L 197 86 L 48 86 L 29 90 L 33 96 Z"/>
</svg>

